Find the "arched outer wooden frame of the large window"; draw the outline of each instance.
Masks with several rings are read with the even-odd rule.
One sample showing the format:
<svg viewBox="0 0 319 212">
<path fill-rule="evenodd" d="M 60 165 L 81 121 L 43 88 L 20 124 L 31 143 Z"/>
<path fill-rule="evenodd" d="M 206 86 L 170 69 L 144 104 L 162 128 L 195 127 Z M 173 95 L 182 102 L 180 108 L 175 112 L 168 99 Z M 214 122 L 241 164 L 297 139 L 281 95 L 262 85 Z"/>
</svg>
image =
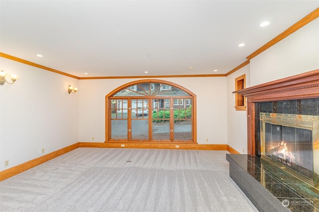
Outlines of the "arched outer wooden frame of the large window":
<svg viewBox="0 0 319 212">
<path fill-rule="evenodd" d="M 110 98 L 114 97 L 116 94 L 118 94 L 119 92 L 121 92 L 122 90 L 124 90 L 128 87 L 137 86 L 138 84 L 142 84 L 142 83 L 150 83 L 150 86 L 151 86 L 151 84 L 154 84 L 154 83 L 158 83 L 161 85 L 165 84 L 167 86 L 180 89 L 181 91 L 187 93 L 192 98 L 193 101 L 192 101 L 191 106 L 192 106 L 192 138 L 193 138 L 193 142 L 190 142 L 188 144 L 197 144 L 196 95 L 194 93 L 192 93 L 191 91 L 189 91 L 188 89 L 186 89 L 178 84 L 175 84 L 175 83 L 172 83 L 169 81 L 155 80 L 155 79 L 137 80 L 137 81 L 132 81 L 132 82 L 126 83 L 126 84 L 114 89 L 108 95 L 105 96 L 105 142 L 123 142 L 123 141 L 114 141 L 114 140 L 110 141 L 109 140 L 110 130 L 111 130 L 109 127 L 110 121 L 111 121 L 111 118 L 109 117 L 109 111 L 111 110 Z M 123 97 L 125 98 L 125 97 L 132 97 L 132 96 L 122 96 L 122 97 L 119 97 L 119 99 L 121 99 L 121 98 L 123 99 Z M 156 97 L 156 96 L 152 96 L 152 95 L 148 96 L 148 98 L 151 98 L 151 97 Z M 173 97 L 173 96 L 160 96 L 160 97 Z M 185 96 L 185 97 L 187 97 L 187 96 Z M 131 141 L 128 141 L 128 142 L 131 142 Z M 143 142 L 143 143 L 145 143 L 145 142 Z M 148 142 L 148 143 L 152 143 L 152 142 Z M 176 143 L 176 142 L 169 142 L 169 143 Z"/>
</svg>

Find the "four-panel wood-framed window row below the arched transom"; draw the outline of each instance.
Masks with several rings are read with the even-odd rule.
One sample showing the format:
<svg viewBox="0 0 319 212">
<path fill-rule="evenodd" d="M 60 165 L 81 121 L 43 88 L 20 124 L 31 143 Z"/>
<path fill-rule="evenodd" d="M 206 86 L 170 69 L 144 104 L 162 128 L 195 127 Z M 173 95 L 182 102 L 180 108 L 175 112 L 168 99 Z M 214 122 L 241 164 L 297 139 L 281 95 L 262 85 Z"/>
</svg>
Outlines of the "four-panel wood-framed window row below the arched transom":
<svg viewBox="0 0 319 212">
<path fill-rule="evenodd" d="M 115 141 L 193 142 L 192 98 L 110 100 L 110 138 Z"/>
</svg>

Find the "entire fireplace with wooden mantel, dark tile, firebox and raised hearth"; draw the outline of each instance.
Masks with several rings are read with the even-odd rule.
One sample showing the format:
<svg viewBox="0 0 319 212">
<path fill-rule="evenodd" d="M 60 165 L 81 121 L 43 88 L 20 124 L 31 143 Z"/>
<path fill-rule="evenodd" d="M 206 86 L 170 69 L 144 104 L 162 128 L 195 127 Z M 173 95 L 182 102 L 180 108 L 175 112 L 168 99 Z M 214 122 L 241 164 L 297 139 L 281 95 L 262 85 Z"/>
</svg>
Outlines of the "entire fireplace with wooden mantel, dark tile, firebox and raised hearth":
<svg viewBox="0 0 319 212">
<path fill-rule="evenodd" d="M 319 69 L 233 93 L 247 98 L 248 155 L 228 156 L 230 176 L 258 209 L 318 211 Z"/>
</svg>

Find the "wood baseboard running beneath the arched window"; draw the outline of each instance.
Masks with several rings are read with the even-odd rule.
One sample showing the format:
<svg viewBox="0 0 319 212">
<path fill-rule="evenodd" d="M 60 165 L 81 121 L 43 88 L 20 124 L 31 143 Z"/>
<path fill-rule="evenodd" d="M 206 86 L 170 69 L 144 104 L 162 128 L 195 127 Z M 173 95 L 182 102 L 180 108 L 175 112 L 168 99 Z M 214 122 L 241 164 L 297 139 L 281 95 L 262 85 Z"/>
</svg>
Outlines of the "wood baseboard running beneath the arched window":
<svg viewBox="0 0 319 212">
<path fill-rule="evenodd" d="M 121 145 L 124 145 L 124 146 L 121 146 Z M 179 147 L 176 148 L 176 145 Z M 227 144 L 79 142 L 79 147 L 96 147 L 96 148 L 227 150 L 227 146 L 228 146 Z"/>
</svg>

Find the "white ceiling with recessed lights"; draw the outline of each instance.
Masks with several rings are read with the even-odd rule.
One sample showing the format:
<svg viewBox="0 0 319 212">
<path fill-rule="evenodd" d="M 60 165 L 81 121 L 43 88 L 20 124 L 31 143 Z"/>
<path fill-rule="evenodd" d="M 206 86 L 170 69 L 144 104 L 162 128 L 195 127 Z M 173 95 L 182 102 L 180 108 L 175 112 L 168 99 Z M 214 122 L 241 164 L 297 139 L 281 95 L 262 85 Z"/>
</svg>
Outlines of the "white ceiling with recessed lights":
<svg viewBox="0 0 319 212">
<path fill-rule="evenodd" d="M 0 52 L 78 77 L 226 74 L 317 7 L 319 0 L 0 0 Z"/>
</svg>

